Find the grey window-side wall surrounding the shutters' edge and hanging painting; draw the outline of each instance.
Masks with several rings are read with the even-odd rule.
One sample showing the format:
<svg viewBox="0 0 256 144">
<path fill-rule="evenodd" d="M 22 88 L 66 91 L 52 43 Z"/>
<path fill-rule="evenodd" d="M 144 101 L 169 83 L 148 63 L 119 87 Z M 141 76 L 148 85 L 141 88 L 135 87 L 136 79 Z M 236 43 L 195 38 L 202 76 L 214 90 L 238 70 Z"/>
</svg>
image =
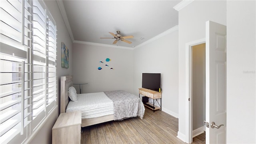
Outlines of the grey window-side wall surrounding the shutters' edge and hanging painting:
<svg viewBox="0 0 256 144">
<path fill-rule="evenodd" d="M 60 76 L 72 75 L 72 40 L 68 34 L 62 15 L 55 0 L 44 1 L 52 17 L 57 25 L 57 104 L 60 105 Z M 64 42 L 69 49 L 69 68 L 61 67 L 61 42 Z M 31 140 L 31 144 L 50 144 L 52 143 L 52 127 L 60 114 L 60 108 L 58 107 L 52 115 L 47 119 L 42 128 L 38 131 L 36 136 Z"/>
</svg>

